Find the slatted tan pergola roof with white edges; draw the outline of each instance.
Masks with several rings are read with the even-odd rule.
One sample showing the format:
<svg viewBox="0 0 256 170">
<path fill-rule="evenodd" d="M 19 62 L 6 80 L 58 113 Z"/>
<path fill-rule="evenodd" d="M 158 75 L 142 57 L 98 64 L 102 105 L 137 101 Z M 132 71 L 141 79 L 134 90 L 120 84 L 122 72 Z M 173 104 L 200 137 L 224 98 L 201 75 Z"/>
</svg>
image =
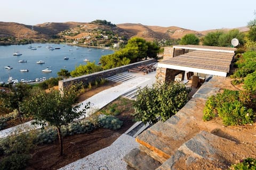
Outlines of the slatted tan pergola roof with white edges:
<svg viewBox="0 0 256 170">
<path fill-rule="evenodd" d="M 173 58 L 158 63 L 158 67 L 191 71 L 226 77 L 229 72 L 236 48 L 212 46 L 173 46 L 173 48 L 193 49 Z"/>
</svg>

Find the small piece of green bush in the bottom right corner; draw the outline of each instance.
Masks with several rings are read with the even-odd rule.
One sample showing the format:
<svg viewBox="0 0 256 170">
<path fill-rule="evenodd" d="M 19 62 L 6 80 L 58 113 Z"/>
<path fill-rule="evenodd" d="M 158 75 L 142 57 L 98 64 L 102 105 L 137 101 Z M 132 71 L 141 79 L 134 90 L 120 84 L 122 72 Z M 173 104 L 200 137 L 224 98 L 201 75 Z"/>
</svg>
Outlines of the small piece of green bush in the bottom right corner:
<svg viewBox="0 0 256 170">
<path fill-rule="evenodd" d="M 241 160 L 240 163 L 231 165 L 231 170 L 255 170 L 256 169 L 256 159 L 246 158 Z"/>
</svg>

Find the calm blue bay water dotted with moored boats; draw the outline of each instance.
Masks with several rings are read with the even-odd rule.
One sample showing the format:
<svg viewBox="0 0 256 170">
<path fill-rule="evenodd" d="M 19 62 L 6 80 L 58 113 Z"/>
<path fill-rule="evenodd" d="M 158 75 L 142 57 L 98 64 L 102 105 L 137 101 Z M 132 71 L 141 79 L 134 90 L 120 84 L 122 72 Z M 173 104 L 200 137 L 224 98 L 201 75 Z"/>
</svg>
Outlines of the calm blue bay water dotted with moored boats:
<svg viewBox="0 0 256 170">
<path fill-rule="evenodd" d="M 35 47 L 36 50 L 31 50 L 29 46 Z M 54 50 L 50 50 L 51 46 Z M 22 55 L 14 56 L 15 52 L 20 52 Z M 99 64 L 102 55 L 113 54 L 114 51 L 105 48 L 88 48 L 81 46 L 71 46 L 66 44 L 39 44 L 30 45 L 9 45 L 0 46 L 0 82 L 7 82 L 10 77 L 13 80 L 25 81 L 36 79 L 49 79 L 58 77 L 58 72 L 61 69 L 69 72 L 75 70 L 76 66 L 86 64 L 84 60 L 90 60 Z M 68 57 L 68 60 L 64 60 Z M 20 63 L 20 60 L 27 62 Z M 44 64 L 36 62 L 43 61 Z M 12 69 L 5 69 L 5 66 L 11 66 Z M 42 72 L 44 69 L 52 70 L 52 72 Z M 21 72 L 20 70 L 28 70 Z"/>
</svg>

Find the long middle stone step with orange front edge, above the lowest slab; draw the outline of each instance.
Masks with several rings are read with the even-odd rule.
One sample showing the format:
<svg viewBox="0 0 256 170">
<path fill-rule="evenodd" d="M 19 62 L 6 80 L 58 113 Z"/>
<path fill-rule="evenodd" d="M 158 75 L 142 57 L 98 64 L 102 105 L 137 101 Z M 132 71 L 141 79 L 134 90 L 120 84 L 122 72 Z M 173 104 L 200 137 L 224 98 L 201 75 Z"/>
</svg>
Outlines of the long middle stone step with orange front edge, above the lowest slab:
<svg viewBox="0 0 256 170">
<path fill-rule="evenodd" d="M 159 121 L 135 139 L 140 148 L 148 155 L 164 163 L 169 159 L 180 145 L 199 132 L 195 113 L 191 107 L 196 108 L 200 99 L 191 99 L 177 114 L 164 123 Z M 197 108 L 202 110 L 203 108 Z M 200 111 L 202 112 L 202 111 Z M 188 118 L 189 117 L 189 118 Z"/>
</svg>

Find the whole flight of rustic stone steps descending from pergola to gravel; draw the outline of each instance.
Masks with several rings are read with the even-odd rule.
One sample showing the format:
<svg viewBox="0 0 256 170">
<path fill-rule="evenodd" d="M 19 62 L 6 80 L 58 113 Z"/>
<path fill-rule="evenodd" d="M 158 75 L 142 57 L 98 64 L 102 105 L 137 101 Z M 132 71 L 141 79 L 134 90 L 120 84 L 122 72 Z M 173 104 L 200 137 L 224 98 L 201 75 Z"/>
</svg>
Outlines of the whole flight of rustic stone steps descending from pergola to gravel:
<svg viewBox="0 0 256 170">
<path fill-rule="evenodd" d="M 177 114 L 139 134 L 135 138 L 139 148 L 123 158 L 127 169 L 227 169 L 230 162 L 241 159 L 241 152 L 236 150 L 243 146 L 213 134 L 202 121 L 206 98 L 219 91 L 217 84 L 221 84 L 221 78 L 205 82 Z"/>
</svg>

